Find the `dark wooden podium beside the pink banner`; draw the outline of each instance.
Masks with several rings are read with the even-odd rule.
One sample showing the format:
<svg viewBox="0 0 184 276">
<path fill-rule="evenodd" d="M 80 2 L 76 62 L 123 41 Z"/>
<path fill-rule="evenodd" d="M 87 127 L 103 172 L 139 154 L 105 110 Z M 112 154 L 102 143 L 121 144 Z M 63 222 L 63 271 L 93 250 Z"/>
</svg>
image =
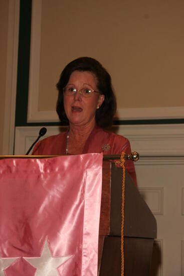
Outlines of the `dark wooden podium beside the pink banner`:
<svg viewBox="0 0 184 276">
<path fill-rule="evenodd" d="M 103 162 L 98 275 L 121 275 L 122 169 Z M 124 204 L 124 276 L 148 276 L 156 220 L 126 172 Z"/>
</svg>

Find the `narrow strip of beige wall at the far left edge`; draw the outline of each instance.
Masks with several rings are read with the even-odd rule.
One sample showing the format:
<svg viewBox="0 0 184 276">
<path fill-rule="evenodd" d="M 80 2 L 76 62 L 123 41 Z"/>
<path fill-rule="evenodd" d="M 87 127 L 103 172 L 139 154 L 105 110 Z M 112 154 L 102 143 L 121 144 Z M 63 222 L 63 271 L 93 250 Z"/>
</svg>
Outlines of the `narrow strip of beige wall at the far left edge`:
<svg viewBox="0 0 184 276">
<path fill-rule="evenodd" d="M 3 152 L 9 1 L 0 1 L 0 154 Z"/>
</svg>

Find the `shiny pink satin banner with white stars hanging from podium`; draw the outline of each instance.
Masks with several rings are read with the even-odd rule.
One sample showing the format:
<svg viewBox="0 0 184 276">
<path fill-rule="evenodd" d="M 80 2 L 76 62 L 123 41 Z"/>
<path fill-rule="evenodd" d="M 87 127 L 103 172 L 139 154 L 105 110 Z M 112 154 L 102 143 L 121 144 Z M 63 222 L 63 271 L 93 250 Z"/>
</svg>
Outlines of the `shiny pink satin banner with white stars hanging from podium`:
<svg viewBox="0 0 184 276">
<path fill-rule="evenodd" d="M 103 154 L 0 160 L 0 275 L 96 276 Z"/>
</svg>

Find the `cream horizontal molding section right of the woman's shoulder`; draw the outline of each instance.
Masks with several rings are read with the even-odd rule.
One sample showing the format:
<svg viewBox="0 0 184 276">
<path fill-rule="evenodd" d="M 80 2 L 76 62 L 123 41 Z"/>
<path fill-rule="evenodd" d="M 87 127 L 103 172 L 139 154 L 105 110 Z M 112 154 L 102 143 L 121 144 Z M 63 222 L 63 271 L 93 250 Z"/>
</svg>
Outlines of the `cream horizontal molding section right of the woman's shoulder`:
<svg viewBox="0 0 184 276">
<path fill-rule="evenodd" d="M 184 156 L 184 124 L 116 125 L 112 131 L 127 137 L 140 156 Z"/>
</svg>

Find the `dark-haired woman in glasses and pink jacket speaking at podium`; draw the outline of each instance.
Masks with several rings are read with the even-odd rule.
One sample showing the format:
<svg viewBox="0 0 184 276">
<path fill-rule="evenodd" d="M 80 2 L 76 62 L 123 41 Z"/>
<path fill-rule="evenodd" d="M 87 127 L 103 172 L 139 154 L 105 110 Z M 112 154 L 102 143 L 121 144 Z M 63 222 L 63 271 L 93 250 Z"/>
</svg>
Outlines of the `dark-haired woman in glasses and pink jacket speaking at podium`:
<svg viewBox="0 0 184 276">
<path fill-rule="evenodd" d="M 104 130 L 112 124 L 116 99 L 111 77 L 95 59 L 81 57 L 62 71 L 58 88 L 57 113 L 66 132 L 38 142 L 33 155 L 75 155 L 131 153 L 129 141 Z M 136 185 L 134 164 L 128 160 L 125 168 Z"/>
</svg>

